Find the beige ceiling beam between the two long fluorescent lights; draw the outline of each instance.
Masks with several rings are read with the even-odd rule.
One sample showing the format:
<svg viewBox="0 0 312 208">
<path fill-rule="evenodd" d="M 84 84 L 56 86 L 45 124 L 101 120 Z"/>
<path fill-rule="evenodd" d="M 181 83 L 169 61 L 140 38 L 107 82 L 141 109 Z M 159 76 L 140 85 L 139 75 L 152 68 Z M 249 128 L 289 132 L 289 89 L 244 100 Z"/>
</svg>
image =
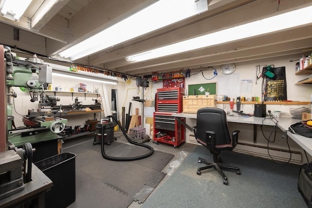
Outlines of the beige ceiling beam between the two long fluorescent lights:
<svg viewBox="0 0 312 208">
<path fill-rule="evenodd" d="M 245 2 L 242 4 L 242 2 Z M 146 39 L 140 39 L 137 42 L 127 42 L 128 45 L 122 47 L 115 46 L 96 55 L 90 56 L 90 64 L 107 63 L 122 59 L 126 56 L 151 50 L 153 48 L 165 46 L 189 38 L 210 34 L 216 31 L 227 29 L 236 25 L 252 22 L 258 19 L 271 17 L 290 11 L 298 7 L 294 1 L 287 0 L 287 4 L 281 6 L 277 10 L 277 2 L 275 1 L 235 1 L 231 2 L 216 10 L 208 10 L 207 12 L 193 18 L 193 23 L 186 21 L 182 27 L 171 29 L 167 33 L 160 34 L 151 38 L 152 34 L 144 36 Z M 311 3 L 312 4 L 312 3 Z M 229 19 L 229 17 L 231 17 Z M 220 27 L 222 25 L 222 27 Z M 157 31 L 156 33 L 159 33 Z M 230 34 L 229 34 L 230 35 Z"/>
</svg>

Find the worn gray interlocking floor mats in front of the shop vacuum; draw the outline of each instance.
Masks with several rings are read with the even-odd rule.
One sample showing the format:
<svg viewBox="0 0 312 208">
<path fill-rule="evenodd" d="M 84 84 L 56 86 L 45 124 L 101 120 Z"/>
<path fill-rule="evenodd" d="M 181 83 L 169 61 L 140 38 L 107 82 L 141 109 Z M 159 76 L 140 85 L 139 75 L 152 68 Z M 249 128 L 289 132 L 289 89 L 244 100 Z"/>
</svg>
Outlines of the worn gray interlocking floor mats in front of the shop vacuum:
<svg viewBox="0 0 312 208">
<path fill-rule="evenodd" d="M 152 156 L 141 160 L 110 161 L 102 157 L 100 145 L 94 146 L 93 140 L 85 140 L 79 145 L 73 141 L 63 145 L 63 152 L 77 154 L 76 201 L 69 208 L 126 208 L 132 201 L 143 203 L 165 176 L 161 170 L 174 157 L 154 151 Z M 105 153 L 115 157 L 132 157 L 148 151 L 117 141 L 105 145 Z"/>
</svg>

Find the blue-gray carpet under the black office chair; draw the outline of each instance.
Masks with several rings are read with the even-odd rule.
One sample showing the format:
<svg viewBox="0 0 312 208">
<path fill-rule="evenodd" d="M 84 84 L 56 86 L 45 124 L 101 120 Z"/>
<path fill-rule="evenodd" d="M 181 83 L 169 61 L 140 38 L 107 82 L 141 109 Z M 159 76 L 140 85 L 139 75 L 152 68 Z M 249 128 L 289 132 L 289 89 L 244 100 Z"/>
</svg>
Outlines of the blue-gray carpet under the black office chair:
<svg viewBox="0 0 312 208">
<path fill-rule="evenodd" d="M 222 156 L 223 155 L 223 156 Z M 180 167 L 144 202 L 142 208 L 305 208 L 297 190 L 299 166 L 233 151 L 223 151 L 223 164 L 238 167 L 241 175 L 224 171 L 229 185 L 223 185 L 215 169 L 196 170 L 212 161 L 204 147 L 196 147 Z"/>
</svg>

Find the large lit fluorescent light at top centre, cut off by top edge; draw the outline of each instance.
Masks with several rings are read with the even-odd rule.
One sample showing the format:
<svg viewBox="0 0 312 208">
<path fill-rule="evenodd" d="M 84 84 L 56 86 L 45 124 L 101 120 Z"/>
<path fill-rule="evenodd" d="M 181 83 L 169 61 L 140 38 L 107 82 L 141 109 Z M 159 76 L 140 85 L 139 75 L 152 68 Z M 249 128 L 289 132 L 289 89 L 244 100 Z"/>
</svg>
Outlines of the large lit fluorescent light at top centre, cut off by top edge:
<svg viewBox="0 0 312 208">
<path fill-rule="evenodd" d="M 159 0 L 97 35 L 62 51 L 59 56 L 76 60 L 207 9 L 207 0 Z"/>
</svg>

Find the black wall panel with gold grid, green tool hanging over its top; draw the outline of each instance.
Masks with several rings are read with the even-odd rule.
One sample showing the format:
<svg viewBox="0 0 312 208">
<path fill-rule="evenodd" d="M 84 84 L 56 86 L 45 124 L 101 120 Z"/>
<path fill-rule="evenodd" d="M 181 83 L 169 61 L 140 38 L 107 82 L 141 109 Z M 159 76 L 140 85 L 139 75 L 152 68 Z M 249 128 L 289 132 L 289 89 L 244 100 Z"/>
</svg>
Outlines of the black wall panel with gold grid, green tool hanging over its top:
<svg viewBox="0 0 312 208">
<path fill-rule="evenodd" d="M 287 100 L 285 69 L 285 66 L 263 68 L 262 76 L 265 78 L 264 101 Z"/>
</svg>

